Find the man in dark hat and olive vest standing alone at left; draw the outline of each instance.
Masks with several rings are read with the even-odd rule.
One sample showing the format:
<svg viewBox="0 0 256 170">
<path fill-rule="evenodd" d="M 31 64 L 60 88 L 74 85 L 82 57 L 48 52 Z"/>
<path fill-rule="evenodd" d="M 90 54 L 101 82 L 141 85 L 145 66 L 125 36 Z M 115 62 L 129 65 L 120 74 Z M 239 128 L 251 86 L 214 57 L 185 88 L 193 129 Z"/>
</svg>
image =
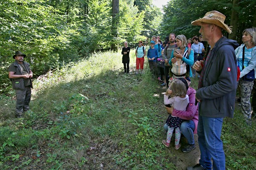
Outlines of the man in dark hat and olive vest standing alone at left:
<svg viewBox="0 0 256 170">
<path fill-rule="evenodd" d="M 24 111 L 29 110 L 29 102 L 31 99 L 31 78 L 33 73 L 28 62 L 24 62 L 26 57 L 20 51 L 16 51 L 13 59 L 15 62 L 9 67 L 9 78 L 12 80 L 12 88 L 16 92 L 16 113 L 15 117 L 21 118 Z"/>
</svg>

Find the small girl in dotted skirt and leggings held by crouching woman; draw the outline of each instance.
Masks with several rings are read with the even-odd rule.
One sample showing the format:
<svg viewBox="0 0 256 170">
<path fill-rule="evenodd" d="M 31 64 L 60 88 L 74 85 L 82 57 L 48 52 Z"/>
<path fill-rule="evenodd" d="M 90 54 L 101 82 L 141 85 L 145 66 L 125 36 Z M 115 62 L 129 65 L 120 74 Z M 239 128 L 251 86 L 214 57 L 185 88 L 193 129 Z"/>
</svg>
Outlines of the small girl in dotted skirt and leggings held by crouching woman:
<svg viewBox="0 0 256 170">
<path fill-rule="evenodd" d="M 181 80 L 175 79 L 171 82 L 166 94 L 163 96 L 163 102 L 165 105 L 172 105 L 176 110 L 186 111 L 186 107 L 189 103 L 189 96 L 186 95 L 186 92 L 185 84 Z M 170 147 L 172 132 L 175 129 L 175 149 L 178 150 L 180 148 L 180 125 L 182 122 L 183 119 L 169 115 L 166 120 L 166 124 L 168 125 L 167 138 L 162 141 L 166 147 Z"/>
</svg>

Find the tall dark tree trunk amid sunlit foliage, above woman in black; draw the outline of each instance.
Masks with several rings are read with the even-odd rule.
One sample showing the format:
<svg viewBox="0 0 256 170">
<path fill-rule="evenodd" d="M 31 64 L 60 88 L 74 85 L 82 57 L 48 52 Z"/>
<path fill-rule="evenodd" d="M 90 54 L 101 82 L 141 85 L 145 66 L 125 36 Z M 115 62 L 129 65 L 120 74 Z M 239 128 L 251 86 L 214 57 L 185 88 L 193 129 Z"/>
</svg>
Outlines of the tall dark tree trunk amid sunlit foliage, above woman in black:
<svg viewBox="0 0 256 170">
<path fill-rule="evenodd" d="M 111 45 L 111 50 L 117 51 L 118 44 L 116 43 L 115 38 L 117 35 L 117 25 L 118 25 L 118 14 L 119 14 L 119 0 L 112 0 L 112 30 L 111 35 L 113 37 L 113 43 Z"/>
</svg>

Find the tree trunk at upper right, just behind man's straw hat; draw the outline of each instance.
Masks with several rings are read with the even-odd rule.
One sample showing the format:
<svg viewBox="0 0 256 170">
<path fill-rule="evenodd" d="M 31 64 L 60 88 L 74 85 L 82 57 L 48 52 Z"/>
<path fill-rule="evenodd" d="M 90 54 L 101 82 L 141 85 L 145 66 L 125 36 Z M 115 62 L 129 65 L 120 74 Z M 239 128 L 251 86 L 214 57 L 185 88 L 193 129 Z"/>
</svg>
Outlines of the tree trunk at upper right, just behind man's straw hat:
<svg viewBox="0 0 256 170">
<path fill-rule="evenodd" d="M 232 26 L 232 34 L 229 34 L 228 38 L 232 40 L 236 40 L 236 34 L 237 34 L 237 26 L 238 26 L 238 6 L 239 0 L 233 0 L 233 6 L 232 6 L 232 14 L 231 14 L 231 21 L 230 26 Z"/>
</svg>

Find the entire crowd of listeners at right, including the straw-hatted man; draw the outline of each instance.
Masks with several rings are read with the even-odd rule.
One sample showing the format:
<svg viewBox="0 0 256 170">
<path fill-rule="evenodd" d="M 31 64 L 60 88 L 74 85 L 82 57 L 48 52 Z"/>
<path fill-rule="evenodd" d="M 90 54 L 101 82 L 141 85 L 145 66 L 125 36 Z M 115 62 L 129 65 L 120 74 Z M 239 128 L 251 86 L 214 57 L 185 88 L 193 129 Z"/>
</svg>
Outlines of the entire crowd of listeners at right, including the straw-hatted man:
<svg viewBox="0 0 256 170">
<path fill-rule="evenodd" d="M 148 49 L 148 63 L 154 77 L 159 75 L 157 59 L 164 62 L 163 72 L 168 88 L 164 104 L 170 115 L 164 125 L 167 137 L 162 143 L 169 147 L 175 130 L 175 149 L 181 147 L 182 133 L 188 142 L 182 151 L 187 153 L 195 149 L 194 133 L 198 134 L 199 164 L 187 167 L 187 170 L 225 170 L 221 130 L 224 117 L 233 118 L 238 85 L 242 113 L 247 125 L 251 125 L 250 95 L 252 90 L 256 91 L 256 28 L 244 30 L 244 43 L 239 46 L 235 40 L 223 36 L 222 30 L 232 33 L 224 23 L 225 18 L 218 11 L 209 11 L 203 18 L 192 22 L 194 26 L 201 26 L 199 37 L 188 41 L 184 35 L 172 33 L 161 52 L 157 37 L 153 36 Z M 209 49 L 205 54 L 206 43 Z M 139 54 L 141 45 L 142 42 L 136 50 L 137 71 L 146 54 L 145 48 L 140 49 Z M 139 62 L 142 60 L 140 57 L 143 57 L 143 62 Z M 196 73 L 199 78 L 197 91 L 190 87 L 190 78 Z"/>
</svg>

